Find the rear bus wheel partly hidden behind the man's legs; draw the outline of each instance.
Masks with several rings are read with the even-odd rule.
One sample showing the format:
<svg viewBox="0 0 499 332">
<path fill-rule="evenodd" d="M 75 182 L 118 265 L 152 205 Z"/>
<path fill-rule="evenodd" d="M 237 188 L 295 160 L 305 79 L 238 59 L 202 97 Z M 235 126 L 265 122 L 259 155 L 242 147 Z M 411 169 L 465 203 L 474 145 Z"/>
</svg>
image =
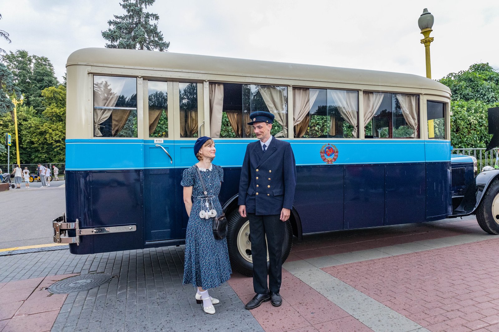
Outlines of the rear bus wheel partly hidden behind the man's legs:
<svg viewBox="0 0 499 332">
<path fill-rule="evenodd" d="M 289 221 L 285 222 L 284 240 L 282 241 L 282 262 L 287 259 L 293 245 L 293 229 Z M 227 245 L 232 267 L 247 276 L 253 275 L 253 258 L 251 256 L 250 221 L 243 218 L 239 211 L 234 211 L 229 218 Z M 268 250 L 267 250 L 268 264 Z"/>
</svg>

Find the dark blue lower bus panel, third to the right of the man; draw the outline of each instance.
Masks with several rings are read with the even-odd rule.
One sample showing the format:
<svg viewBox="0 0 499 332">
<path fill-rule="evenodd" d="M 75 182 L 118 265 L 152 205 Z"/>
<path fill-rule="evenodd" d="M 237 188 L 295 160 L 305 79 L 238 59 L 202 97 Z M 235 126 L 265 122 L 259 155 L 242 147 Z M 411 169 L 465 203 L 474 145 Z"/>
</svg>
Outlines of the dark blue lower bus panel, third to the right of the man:
<svg viewBox="0 0 499 332">
<path fill-rule="evenodd" d="M 388 164 L 385 225 L 425 221 L 425 164 Z"/>
</svg>

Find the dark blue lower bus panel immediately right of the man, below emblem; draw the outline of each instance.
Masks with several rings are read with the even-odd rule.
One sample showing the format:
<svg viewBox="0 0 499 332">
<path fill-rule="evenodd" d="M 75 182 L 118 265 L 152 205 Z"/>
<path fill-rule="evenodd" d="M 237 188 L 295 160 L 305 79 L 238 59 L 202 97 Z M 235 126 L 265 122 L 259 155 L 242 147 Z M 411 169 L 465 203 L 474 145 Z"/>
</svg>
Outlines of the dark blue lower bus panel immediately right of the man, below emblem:
<svg viewBox="0 0 499 332">
<path fill-rule="evenodd" d="M 296 177 L 303 233 L 343 229 L 343 165 L 297 166 Z"/>
</svg>

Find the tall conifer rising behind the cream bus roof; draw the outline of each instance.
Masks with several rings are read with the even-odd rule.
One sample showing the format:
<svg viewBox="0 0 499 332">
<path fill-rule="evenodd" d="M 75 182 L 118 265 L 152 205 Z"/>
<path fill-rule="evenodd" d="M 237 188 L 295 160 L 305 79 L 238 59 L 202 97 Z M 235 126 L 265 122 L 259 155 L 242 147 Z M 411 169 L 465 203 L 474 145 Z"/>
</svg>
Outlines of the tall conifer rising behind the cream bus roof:
<svg viewBox="0 0 499 332">
<path fill-rule="evenodd" d="M 109 41 L 107 48 L 166 51 L 170 42 L 165 42 L 163 33 L 158 30 L 159 15 L 144 11 L 155 0 L 123 0 L 120 6 L 126 14 L 107 21 L 109 29 L 101 31 Z M 156 21 L 151 23 L 151 21 Z"/>
</svg>

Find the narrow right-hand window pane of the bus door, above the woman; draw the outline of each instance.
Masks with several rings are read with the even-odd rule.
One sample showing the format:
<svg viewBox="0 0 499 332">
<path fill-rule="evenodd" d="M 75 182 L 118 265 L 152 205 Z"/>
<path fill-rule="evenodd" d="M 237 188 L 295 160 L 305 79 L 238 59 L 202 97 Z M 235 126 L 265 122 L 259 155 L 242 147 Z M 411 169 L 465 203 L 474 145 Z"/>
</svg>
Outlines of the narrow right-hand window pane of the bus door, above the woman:
<svg viewBox="0 0 499 332">
<path fill-rule="evenodd" d="M 198 137 L 198 85 L 179 83 L 180 137 Z"/>
</svg>

